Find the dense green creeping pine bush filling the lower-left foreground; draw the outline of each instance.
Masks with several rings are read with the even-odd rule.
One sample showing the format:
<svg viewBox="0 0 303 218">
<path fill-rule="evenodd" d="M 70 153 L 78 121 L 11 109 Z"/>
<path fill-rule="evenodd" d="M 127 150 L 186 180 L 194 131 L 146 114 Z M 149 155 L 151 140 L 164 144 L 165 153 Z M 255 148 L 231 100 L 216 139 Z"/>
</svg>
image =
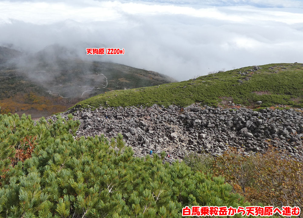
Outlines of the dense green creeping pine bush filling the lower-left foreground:
<svg viewBox="0 0 303 218">
<path fill-rule="evenodd" d="M 0 115 L 0 217 L 168 218 L 185 206 L 246 205 L 222 177 L 133 157 L 121 134 L 74 139 L 79 124 Z"/>
</svg>

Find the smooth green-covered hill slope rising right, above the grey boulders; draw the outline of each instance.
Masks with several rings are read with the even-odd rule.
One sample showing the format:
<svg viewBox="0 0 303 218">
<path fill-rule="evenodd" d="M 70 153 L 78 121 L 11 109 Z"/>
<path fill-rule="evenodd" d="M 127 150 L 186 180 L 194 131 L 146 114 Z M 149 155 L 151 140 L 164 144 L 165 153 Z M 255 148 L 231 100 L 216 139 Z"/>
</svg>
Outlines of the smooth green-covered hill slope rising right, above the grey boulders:
<svg viewBox="0 0 303 218">
<path fill-rule="evenodd" d="M 239 74 L 239 71 L 245 72 L 253 67 L 201 76 L 196 80 L 111 91 L 81 101 L 74 107 L 152 104 L 186 106 L 195 102 L 218 105 L 222 100 L 247 106 L 262 101 L 262 106 L 285 104 L 303 107 L 303 64 L 280 63 L 260 67 L 262 69 L 245 76 Z M 249 80 L 244 80 L 245 77 Z"/>
</svg>

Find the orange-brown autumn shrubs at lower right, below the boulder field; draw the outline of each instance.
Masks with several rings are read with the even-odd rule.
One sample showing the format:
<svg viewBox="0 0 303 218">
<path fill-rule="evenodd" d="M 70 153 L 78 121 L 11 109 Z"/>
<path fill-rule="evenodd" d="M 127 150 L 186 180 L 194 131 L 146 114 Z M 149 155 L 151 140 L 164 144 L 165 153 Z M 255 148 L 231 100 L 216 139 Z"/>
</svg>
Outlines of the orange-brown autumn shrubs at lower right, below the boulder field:
<svg viewBox="0 0 303 218">
<path fill-rule="evenodd" d="M 213 169 L 252 204 L 303 206 L 303 163 L 286 151 L 270 146 L 265 154 L 243 156 L 233 148 L 216 158 Z"/>
</svg>

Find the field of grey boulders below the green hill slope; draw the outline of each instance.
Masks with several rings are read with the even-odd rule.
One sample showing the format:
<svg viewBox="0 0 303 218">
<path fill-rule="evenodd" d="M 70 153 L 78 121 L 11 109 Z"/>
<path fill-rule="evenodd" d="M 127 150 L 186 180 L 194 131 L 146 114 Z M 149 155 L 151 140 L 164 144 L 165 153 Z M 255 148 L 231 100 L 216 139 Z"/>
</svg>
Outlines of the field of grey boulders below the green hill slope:
<svg viewBox="0 0 303 218">
<path fill-rule="evenodd" d="M 182 108 L 99 107 L 72 109 L 81 125 L 77 137 L 104 134 L 111 138 L 121 133 L 135 156 L 145 157 L 150 150 L 165 151 L 168 161 L 183 159 L 189 152 L 221 155 L 228 147 L 265 152 L 269 144 L 284 148 L 292 157 L 302 159 L 303 116 L 299 108 L 288 110 L 213 108 L 193 104 Z M 55 116 L 48 117 L 55 120 Z"/>
</svg>

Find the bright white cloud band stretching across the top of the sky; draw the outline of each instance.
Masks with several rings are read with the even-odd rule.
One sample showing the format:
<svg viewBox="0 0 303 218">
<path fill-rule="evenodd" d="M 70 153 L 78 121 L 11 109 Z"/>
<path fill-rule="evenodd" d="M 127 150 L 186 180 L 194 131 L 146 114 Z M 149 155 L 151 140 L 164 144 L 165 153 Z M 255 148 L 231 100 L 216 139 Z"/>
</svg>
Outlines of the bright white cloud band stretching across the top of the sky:
<svg viewBox="0 0 303 218">
<path fill-rule="evenodd" d="M 97 2 L 85 7 L 63 2 L 0 2 L 0 20 L 22 20 L 35 24 L 50 24 L 72 19 L 78 22 L 108 21 L 129 15 L 186 15 L 196 18 L 210 18 L 222 21 L 249 23 L 251 21 L 275 21 L 287 24 L 303 22 L 302 13 L 281 10 L 260 9 L 252 6 L 202 7 L 191 5 L 161 5 L 144 2 Z"/>
</svg>

